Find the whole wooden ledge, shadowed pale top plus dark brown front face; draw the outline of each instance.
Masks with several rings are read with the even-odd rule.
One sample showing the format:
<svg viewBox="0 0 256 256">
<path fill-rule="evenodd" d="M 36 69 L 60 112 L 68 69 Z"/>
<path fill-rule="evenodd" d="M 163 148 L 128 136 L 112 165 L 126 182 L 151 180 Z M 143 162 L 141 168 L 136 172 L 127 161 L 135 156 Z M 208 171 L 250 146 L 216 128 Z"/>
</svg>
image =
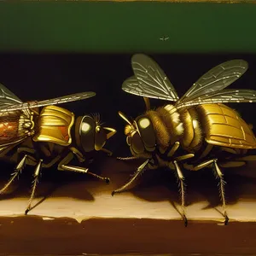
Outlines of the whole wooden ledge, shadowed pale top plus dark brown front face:
<svg viewBox="0 0 256 256">
<path fill-rule="evenodd" d="M 223 225 L 218 212 L 221 207 L 212 172 L 184 172 L 187 228 L 177 212 L 177 184 L 172 172 L 145 172 L 137 189 L 110 195 L 136 166 L 97 160 L 90 171 L 101 170 L 112 179 L 109 185 L 76 173 L 45 170 L 34 203 L 41 202 L 27 216 L 23 212 L 32 172 L 24 171 L 16 183 L 19 187 L 0 201 L 0 253 L 256 253 L 254 166 L 225 172 L 228 226 Z M 6 169 L 2 183 L 7 176 Z M 42 201 L 44 195 L 48 196 Z"/>
</svg>

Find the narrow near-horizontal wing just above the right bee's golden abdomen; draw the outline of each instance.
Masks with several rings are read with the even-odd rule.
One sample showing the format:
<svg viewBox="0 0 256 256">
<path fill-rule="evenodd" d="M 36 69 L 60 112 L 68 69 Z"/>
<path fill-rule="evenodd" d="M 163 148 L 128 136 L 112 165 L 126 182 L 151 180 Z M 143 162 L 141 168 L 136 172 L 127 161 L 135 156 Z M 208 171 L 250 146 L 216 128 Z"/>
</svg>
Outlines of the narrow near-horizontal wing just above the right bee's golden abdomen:
<svg viewBox="0 0 256 256">
<path fill-rule="evenodd" d="M 201 96 L 196 100 L 177 105 L 177 108 L 188 108 L 190 106 L 207 103 L 229 103 L 229 102 L 256 102 L 256 90 L 221 90 L 209 95 Z"/>
</svg>

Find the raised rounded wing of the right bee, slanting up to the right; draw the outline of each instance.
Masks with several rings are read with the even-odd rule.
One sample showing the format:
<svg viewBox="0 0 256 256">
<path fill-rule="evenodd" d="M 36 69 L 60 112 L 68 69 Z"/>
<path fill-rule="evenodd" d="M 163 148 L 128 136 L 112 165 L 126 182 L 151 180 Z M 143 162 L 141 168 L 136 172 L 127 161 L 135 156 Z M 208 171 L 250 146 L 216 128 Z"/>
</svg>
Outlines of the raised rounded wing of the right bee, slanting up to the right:
<svg viewBox="0 0 256 256">
<path fill-rule="evenodd" d="M 239 79 L 241 75 L 247 71 L 247 67 L 247 61 L 243 60 L 226 61 L 213 67 L 191 86 L 177 102 L 177 105 L 191 102 L 192 100 L 196 100 L 212 92 L 223 90 L 225 87 L 235 82 L 236 79 Z"/>
</svg>

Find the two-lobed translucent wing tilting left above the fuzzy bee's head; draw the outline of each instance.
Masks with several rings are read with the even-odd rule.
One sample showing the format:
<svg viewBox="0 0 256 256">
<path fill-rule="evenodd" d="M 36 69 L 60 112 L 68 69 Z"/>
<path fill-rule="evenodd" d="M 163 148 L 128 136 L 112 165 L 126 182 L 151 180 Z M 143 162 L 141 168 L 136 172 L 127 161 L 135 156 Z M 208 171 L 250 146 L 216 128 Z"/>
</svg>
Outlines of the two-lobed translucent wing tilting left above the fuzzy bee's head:
<svg viewBox="0 0 256 256">
<path fill-rule="evenodd" d="M 177 102 L 173 85 L 162 69 L 147 55 L 133 55 L 131 67 L 135 77 L 125 80 L 122 89 L 137 96 Z"/>
</svg>

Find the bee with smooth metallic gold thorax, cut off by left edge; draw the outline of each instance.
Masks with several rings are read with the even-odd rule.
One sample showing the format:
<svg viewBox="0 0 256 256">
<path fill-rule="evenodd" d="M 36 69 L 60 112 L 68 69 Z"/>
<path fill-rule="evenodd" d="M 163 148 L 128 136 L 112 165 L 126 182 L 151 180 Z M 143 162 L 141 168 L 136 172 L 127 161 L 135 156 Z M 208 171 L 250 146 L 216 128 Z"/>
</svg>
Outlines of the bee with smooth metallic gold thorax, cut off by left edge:
<svg viewBox="0 0 256 256">
<path fill-rule="evenodd" d="M 98 114 L 76 117 L 67 109 L 55 106 L 92 96 L 96 96 L 96 93 L 87 91 L 40 102 L 21 102 L 0 84 L 0 158 L 9 158 L 17 163 L 15 172 L 0 194 L 9 188 L 26 165 L 35 166 L 32 193 L 25 214 L 32 209 L 42 168 L 56 164 L 60 171 L 87 173 L 109 182 L 108 177 L 98 176 L 89 172 L 88 168 L 71 166 L 69 163 L 73 159 L 83 163 L 84 154 L 95 150 L 112 154 L 103 147 L 116 131 L 103 127 Z M 15 153 L 9 157 L 12 151 Z"/>
</svg>

